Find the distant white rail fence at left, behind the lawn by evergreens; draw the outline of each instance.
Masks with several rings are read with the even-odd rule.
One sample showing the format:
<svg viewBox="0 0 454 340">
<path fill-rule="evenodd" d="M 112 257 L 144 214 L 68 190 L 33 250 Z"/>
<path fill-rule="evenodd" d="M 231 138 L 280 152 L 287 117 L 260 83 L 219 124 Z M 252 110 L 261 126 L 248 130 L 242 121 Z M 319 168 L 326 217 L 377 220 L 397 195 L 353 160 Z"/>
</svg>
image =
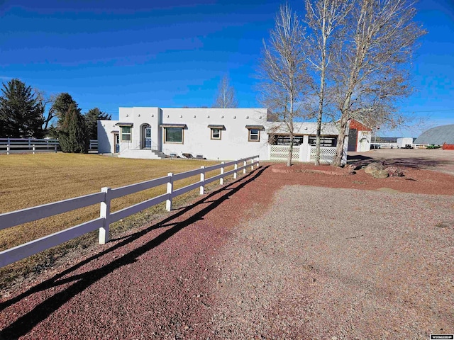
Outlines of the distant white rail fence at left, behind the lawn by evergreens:
<svg viewBox="0 0 454 340">
<path fill-rule="evenodd" d="M 90 150 L 98 149 L 98 141 L 90 140 Z M 57 152 L 60 150 L 58 140 L 47 138 L 0 138 L 0 153 L 6 154 L 18 152 Z"/>
</svg>

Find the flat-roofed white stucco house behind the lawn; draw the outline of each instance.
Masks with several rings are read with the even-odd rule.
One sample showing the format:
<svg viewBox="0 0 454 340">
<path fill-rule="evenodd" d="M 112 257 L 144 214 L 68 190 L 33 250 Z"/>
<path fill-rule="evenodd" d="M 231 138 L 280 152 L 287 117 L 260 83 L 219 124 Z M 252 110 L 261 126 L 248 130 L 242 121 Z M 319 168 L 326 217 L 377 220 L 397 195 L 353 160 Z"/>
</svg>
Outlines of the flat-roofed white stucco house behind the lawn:
<svg viewBox="0 0 454 340">
<path fill-rule="evenodd" d="M 98 121 L 98 152 L 143 159 L 229 160 L 255 154 L 263 160 L 285 159 L 288 133 L 271 118 L 267 108 L 119 108 L 118 120 Z M 293 159 L 311 162 L 316 123 L 294 126 Z M 321 160 L 329 162 L 337 145 L 337 125 L 324 124 L 322 135 Z"/>
</svg>

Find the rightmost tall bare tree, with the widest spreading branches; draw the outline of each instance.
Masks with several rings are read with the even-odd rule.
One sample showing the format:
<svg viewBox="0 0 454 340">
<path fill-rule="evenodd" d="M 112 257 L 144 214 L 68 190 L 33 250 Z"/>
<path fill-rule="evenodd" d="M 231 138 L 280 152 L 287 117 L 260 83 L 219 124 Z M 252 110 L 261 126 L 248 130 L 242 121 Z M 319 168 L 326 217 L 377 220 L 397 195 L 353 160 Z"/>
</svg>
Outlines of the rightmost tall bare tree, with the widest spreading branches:
<svg viewBox="0 0 454 340">
<path fill-rule="evenodd" d="M 341 166 L 351 118 L 401 123 L 395 102 L 411 93 L 409 61 L 416 40 L 425 34 L 413 21 L 415 13 L 411 0 L 358 0 L 350 12 L 343 45 L 336 47 L 333 60 L 335 101 L 341 116 L 333 165 Z"/>
</svg>

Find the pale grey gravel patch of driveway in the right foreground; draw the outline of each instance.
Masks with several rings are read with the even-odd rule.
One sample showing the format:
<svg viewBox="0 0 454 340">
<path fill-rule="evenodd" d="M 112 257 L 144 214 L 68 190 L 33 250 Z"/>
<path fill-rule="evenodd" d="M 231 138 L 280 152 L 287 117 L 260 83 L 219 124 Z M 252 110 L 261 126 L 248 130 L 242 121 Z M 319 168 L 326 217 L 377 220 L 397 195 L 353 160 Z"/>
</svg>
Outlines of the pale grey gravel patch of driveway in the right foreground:
<svg viewBox="0 0 454 340">
<path fill-rule="evenodd" d="M 274 203 L 218 256 L 220 338 L 453 333 L 454 198 L 287 186 Z"/>
</svg>

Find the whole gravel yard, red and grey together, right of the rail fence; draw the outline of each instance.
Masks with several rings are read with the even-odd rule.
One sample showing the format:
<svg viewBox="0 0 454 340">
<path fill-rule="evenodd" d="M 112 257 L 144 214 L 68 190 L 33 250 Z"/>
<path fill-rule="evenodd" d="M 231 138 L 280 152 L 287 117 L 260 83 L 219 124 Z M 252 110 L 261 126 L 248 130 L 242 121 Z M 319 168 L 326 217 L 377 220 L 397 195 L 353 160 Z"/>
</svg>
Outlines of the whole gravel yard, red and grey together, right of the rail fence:
<svg viewBox="0 0 454 340">
<path fill-rule="evenodd" d="M 76 254 L 1 298 L 0 339 L 453 334 L 454 152 L 384 151 L 350 163 L 404 177 L 264 164 Z"/>
</svg>

